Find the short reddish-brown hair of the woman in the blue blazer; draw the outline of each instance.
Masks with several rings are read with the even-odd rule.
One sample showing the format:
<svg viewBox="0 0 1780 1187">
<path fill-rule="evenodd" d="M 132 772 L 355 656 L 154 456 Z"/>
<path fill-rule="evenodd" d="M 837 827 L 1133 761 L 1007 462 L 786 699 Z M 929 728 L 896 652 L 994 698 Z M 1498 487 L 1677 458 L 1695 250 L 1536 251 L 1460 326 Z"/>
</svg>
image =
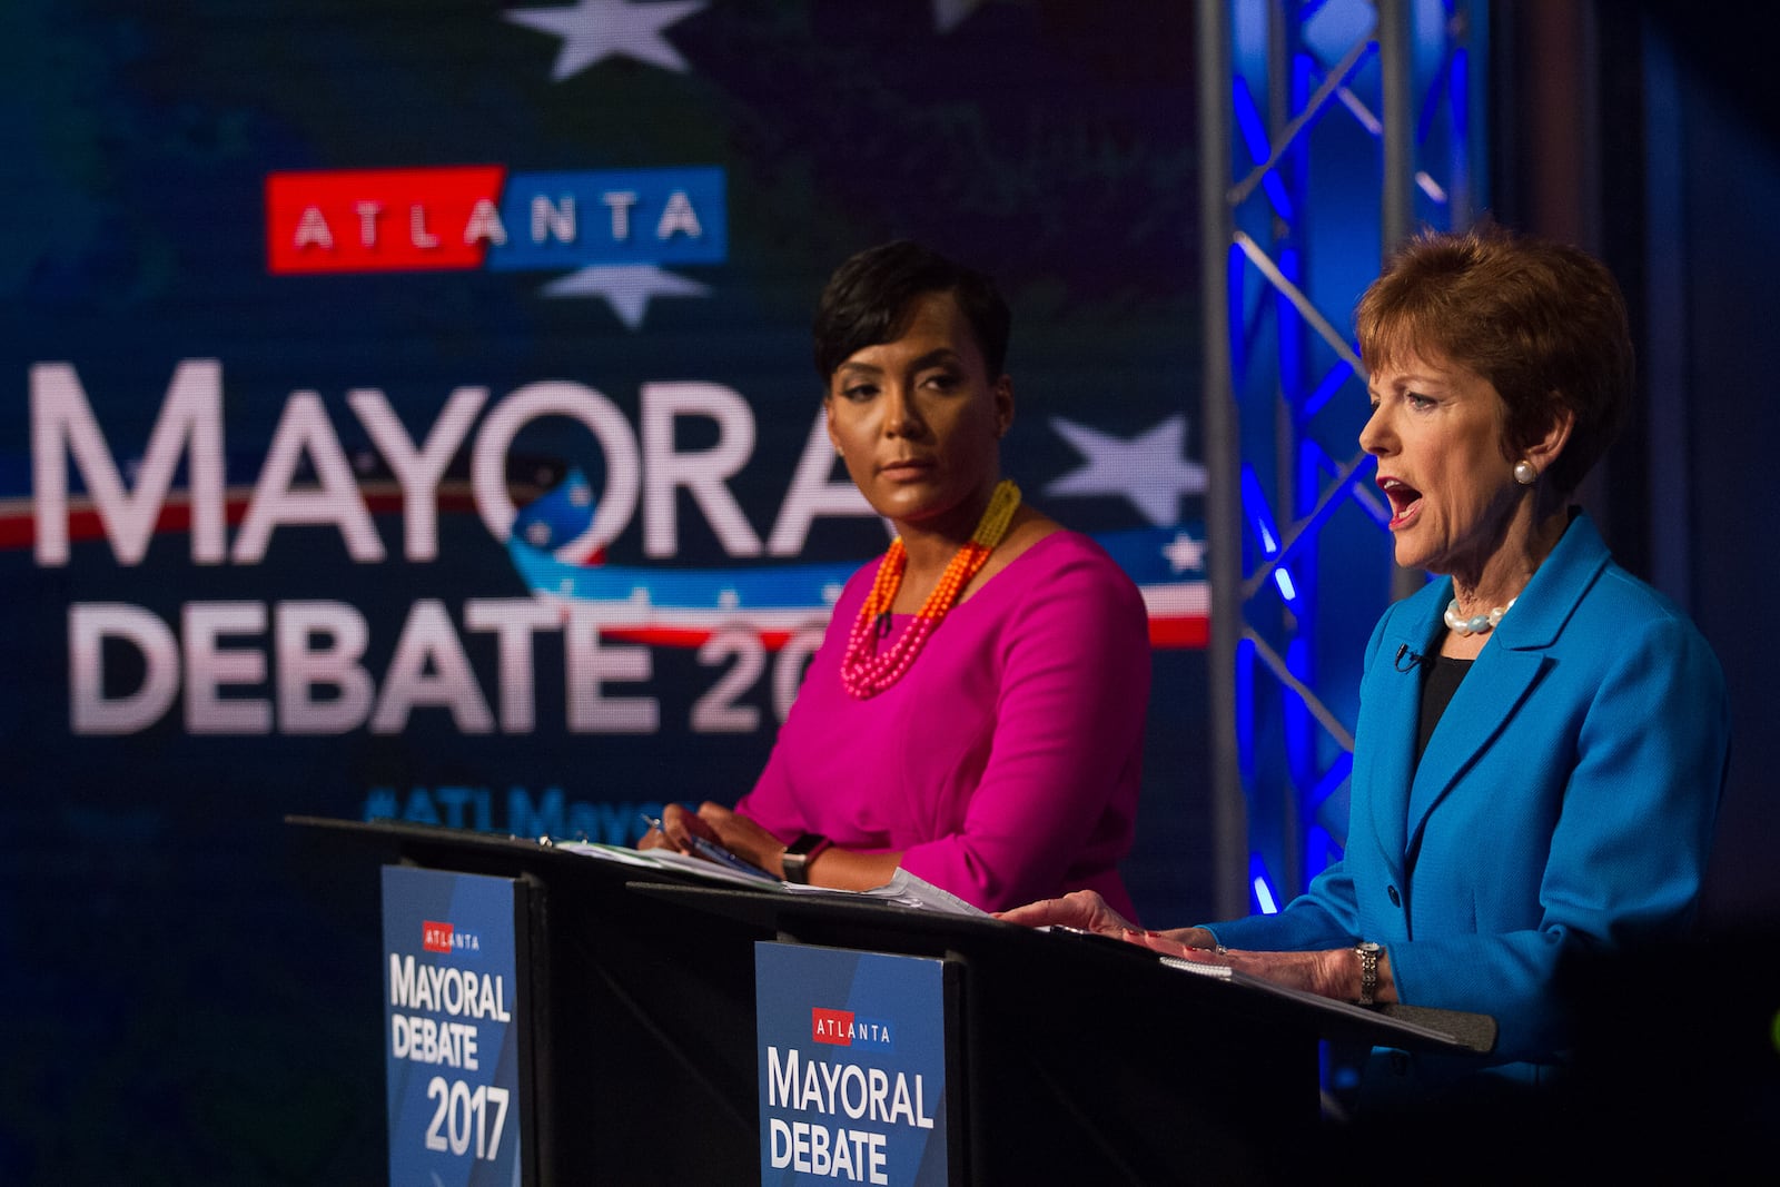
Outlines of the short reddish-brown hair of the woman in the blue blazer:
<svg viewBox="0 0 1780 1187">
<path fill-rule="evenodd" d="M 1625 418 L 1634 351 L 1625 297 L 1579 247 L 1497 224 L 1424 231 L 1404 244 L 1355 311 L 1367 370 L 1410 352 L 1483 375 L 1508 406 L 1509 448 L 1536 441 L 1559 409 L 1570 441 L 1547 470 L 1572 495 Z"/>
</svg>

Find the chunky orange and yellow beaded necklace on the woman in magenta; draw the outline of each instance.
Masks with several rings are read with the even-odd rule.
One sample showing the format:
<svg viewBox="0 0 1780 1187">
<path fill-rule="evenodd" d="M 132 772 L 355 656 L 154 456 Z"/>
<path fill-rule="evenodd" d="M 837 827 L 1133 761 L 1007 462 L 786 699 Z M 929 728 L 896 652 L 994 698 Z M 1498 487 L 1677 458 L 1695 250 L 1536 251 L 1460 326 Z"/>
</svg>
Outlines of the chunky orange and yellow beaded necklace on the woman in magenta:
<svg viewBox="0 0 1780 1187">
<path fill-rule="evenodd" d="M 970 543 L 952 553 L 945 573 L 940 575 L 940 584 L 927 594 L 927 600 L 915 614 L 915 621 L 895 641 L 895 646 L 879 653 L 872 646 L 872 635 L 878 630 L 878 619 L 888 618 L 890 607 L 895 603 L 895 594 L 902 589 L 902 571 L 908 568 L 908 550 L 902 546 L 902 537 L 897 536 L 890 541 L 890 550 L 885 552 L 885 559 L 878 564 L 878 578 L 872 582 L 872 593 L 865 598 L 865 605 L 860 607 L 860 616 L 853 619 L 853 632 L 847 635 L 847 655 L 840 662 L 840 685 L 856 701 L 878 696 L 902 678 L 902 673 L 910 669 L 910 664 L 915 662 L 915 657 L 926 646 L 927 635 L 938 630 L 940 623 L 951 612 L 952 603 L 958 602 L 958 594 L 983 569 L 990 553 L 995 552 L 995 545 L 1007 536 L 1007 525 L 1013 521 L 1013 513 L 1018 507 L 1020 488 L 1013 484 L 1013 479 L 997 482 L 995 493 L 990 495 L 990 505 L 983 509 L 983 518 L 977 520 L 977 529 L 970 534 Z"/>
</svg>

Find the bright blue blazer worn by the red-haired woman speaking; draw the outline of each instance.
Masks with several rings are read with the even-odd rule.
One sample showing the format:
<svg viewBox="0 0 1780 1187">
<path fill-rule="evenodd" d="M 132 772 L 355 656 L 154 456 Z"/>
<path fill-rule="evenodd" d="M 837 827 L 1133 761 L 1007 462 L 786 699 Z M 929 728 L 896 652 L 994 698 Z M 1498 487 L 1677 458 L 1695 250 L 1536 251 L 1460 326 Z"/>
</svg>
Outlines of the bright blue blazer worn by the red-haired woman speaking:
<svg viewBox="0 0 1780 1187">
<path fill-rule="evenodd" d="M 1497 1020 L 1486 1061 L 1374 1059 L 1387 1094 L 1561 1064 L 1559 957 L 1691 925 L 1730 751 L 1711 646 L 1574 513 L 1417 765 L 1420 671 L 1397 657 L 1438 651 L 1451 598 L 1433 582 L 1367 644 L 1342 861 L 1278 915 L 1212 925 L 1241 949 L 1376 940 L 1399 1000 Z"/>
</svg>

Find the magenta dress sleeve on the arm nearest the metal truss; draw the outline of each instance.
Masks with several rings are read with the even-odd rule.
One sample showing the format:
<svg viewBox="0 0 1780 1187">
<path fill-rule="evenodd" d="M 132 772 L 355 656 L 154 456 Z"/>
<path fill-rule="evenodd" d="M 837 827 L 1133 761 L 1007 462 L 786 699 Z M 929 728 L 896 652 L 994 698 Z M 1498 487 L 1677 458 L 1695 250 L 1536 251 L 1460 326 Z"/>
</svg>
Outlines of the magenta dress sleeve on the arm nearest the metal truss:
<svg viewBox="0 0 1780 1187">
<path fill-rule="evenodd" d="M 1093 886 L 1129 909 L 1116 870 L 1150 699 L 1141 594 L 1111 559 L 1075 553 L 990 642 L 1004 662 L 995 742 L 965 826 L 910 847 L 902 867 L 995 908 Z"/>
</svg>

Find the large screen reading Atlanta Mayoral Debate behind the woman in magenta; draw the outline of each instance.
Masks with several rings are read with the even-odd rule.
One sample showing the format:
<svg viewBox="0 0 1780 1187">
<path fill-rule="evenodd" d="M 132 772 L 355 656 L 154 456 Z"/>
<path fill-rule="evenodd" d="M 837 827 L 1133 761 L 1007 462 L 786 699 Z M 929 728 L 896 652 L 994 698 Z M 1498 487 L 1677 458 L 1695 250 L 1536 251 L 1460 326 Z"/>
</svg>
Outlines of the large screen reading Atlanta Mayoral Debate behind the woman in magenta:
<svg viewBox="0 0 1780 1187">
<path fill-rule="evenodd" d="M 1191 20 L 7 4 L 0 1180 L 377 1173 L 377 936 L 287 813 L 628 842 L 749 788 L 888 539 L 810 361 L 886 238 L 1015 308 L 1004 472 L 1150 607 L 1127 881 L 1202 916 Z"/>
</svg>

